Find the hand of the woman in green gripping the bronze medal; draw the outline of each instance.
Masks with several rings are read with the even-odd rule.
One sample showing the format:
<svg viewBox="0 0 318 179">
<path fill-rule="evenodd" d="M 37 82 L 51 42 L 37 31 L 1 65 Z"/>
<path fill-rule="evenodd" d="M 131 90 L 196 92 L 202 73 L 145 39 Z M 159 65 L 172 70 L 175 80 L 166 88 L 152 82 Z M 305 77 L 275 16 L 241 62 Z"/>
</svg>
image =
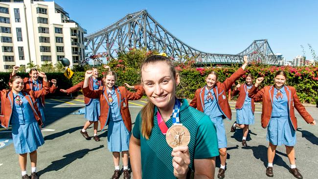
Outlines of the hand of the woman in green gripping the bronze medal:
<svg viewBox="0 0 318 179">
<path fill-rule="evenodd" d="M 171 153 L 173 174 L 178 179 L 185 179 L 189 170 L 190 155 L 188 146 L 179 146 L 173 149 Z"/>
</svg>

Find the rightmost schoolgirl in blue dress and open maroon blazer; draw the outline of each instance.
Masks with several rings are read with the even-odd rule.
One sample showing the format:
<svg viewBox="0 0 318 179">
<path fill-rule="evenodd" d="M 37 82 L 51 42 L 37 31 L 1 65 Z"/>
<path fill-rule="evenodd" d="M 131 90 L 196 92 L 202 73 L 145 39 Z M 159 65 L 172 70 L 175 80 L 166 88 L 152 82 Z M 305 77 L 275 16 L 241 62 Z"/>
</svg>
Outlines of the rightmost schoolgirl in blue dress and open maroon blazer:
<svg viewBox="0 0 318 179">
<path fill-rule="evenodd" d="M 302 175 L 296 168 L 295 149 L 297 119 L 295 109 L 302 118 L 311 125 L 316 125 L 316 121 L 306 111 L 300 103 L 294 87 L 286 86 L 287 74 L 285 71 L 277 71 L 274 76 L 274 85 L 266 86 L 257 91 L 258 86 L 264 80 L 257 78 L 255 85 L 251 88 L 250 98 L 262 98 L 262 127 L 267 127 L 267 140 L 269 147 L 267 150 L 268 166 L 266 175 L 273 177 L 273 161 L 277 145 L 285 145 L 286 154 L 290 162 L 289 172 L 297 179 L 302 179 Z"/>
</svg>

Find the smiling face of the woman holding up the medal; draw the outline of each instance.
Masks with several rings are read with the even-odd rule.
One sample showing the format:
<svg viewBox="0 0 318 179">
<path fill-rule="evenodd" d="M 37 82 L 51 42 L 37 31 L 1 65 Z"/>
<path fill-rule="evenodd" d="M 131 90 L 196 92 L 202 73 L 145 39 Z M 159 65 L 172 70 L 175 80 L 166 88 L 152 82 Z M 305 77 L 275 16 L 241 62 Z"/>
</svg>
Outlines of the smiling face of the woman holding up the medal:
<svg viewBox="0 0 318 179">
<path fill-rule="evenodd" d="M 148 99 L 159 109 L 172 109 L 175 104 L 179 75 L 174 77 L 166 62 L 147 64 L 141 69 L 142 86 Z"/>
</svg>

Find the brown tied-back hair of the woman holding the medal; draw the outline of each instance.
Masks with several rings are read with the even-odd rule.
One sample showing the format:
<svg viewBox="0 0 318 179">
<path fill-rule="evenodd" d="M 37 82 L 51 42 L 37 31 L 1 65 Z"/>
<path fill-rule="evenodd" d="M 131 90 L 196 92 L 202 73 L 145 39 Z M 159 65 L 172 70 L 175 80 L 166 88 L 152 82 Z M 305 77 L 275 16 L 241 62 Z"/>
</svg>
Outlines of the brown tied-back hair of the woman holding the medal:
<svg viewBox="0 0 318 179">
<path fill-rule="evenodd" d="M 174 79 L 176 78 L 177 72 L 175 69 L 175 65 L 172 63 L 172 61 L 161 55 L 152 55 L 144 60 L 144 62 L 140 66 L 140 76 L 141 76 L 141 82 L 142 82 L 142 69 L 143 67 L 149 65 L 149 64 L 157 64 L 159 62 L 164 62 L 169 67 L 169 70 L 172 72 Z M 148 103 L 141 109 L 141 134 L 144 138 L 147 140 L 150 137 L 152 128 L 154 127 L 154 108 L 155 105 L 148 101 Z"/>
</svg>

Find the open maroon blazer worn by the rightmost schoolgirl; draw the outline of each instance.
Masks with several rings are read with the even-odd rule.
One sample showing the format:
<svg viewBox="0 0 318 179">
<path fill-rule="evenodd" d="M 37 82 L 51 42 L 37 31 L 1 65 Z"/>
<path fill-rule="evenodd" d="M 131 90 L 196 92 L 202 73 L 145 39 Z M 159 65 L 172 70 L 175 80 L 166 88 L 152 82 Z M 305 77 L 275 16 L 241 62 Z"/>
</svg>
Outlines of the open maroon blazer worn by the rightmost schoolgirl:
<svg viewBox="0 0 318 179">
<path fill-rule="evenodd" d="M 284 86 L 284 88 L 288 99 L 289 119 L 292 121 L 294 130 L 297 129 L 297 119 L 295 117 L 294 108 L 296 108 L 296 110 L 299 112 L 302 118 L 305 119 L 307 123 L 313 122 L 313 117 L 306 111 L 305 107 L 300 103 L 295 88 L 290 86 Z M 266 128 L 268 126 L 270 119 L 272 117 L 273 95 L 273 86 L 266 86 L 263 89 L 257 91 L 257 88 L 255 87 L 255 85 L 253 85 L 253 87 L 250 89 L 250 98 L 262 98 L 263 104 L 261 123 L 263 128 Z"/>
</svg>

